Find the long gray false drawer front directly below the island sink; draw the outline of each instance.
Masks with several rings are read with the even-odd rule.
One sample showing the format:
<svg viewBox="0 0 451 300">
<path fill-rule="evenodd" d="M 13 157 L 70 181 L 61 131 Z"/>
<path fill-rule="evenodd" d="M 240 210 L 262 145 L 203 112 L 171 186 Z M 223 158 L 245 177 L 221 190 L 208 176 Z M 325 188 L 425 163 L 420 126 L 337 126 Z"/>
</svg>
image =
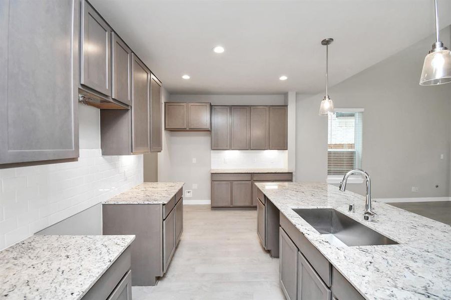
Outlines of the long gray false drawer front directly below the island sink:
<svg viewBox="0 0 451 300">
<path fill-rule="evenodd" d="M 307 258 L 322 280 L 327 286 L 330 286 L 332 283 L 332 265 L 330 262 L 282 213 L 280 213 L 280 226 L 291 237 L 299 251 Z"/>
</svg>

